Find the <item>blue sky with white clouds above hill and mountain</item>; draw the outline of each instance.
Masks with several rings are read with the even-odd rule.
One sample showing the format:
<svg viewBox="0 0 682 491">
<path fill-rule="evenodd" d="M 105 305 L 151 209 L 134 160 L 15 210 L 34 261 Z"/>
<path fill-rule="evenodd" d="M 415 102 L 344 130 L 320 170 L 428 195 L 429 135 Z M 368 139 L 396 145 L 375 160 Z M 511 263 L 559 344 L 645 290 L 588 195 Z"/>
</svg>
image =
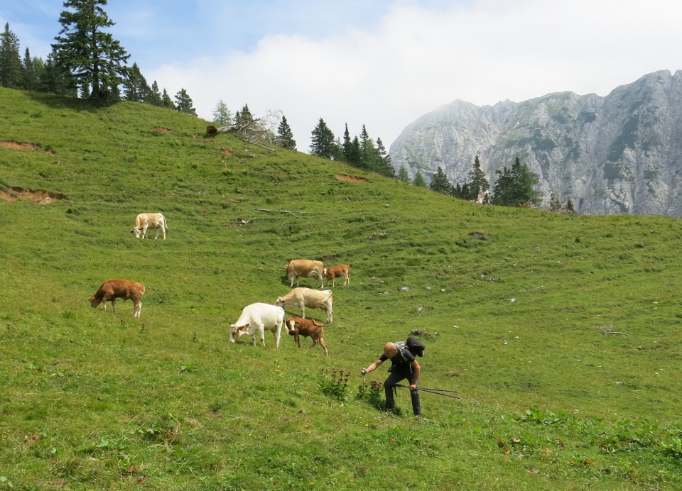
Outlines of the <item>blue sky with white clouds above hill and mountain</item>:
<svg viewBox="0 0 682 491">
<path fill-rule="evenodd" d="M 60 31 L 59 0 L 6 0 L 31 55 Z M 111 0 L 109 32 L 149 84 L 181 88 L 212 119 L 281 111 L 308 151 L 323 118 L 362 125 L 388 147 L 455 99 L 477 105 L 550 92 L 607 95 L 650 72 L 682 69 L 679 0 Z"/>
</svg>

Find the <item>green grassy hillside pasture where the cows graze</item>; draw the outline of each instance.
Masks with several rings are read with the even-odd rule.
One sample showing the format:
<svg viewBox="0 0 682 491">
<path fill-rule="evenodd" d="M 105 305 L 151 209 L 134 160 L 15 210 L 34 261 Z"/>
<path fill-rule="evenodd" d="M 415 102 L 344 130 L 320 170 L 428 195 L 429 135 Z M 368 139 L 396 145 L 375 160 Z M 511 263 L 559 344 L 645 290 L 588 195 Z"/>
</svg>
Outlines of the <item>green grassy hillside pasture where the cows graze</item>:
<svg viewBox="0 0 682 491">
<path fill-rule="evenodd" d="M 681 221 L 480 206 L 206 124 L 0 89 L 0 191 L 55 196 L 0 199 L 0 488 L 682 486 Z M 292 258 L 352 265 L 328 358 L 229 342 Z M 114 277 L 141 319 L 90 308 Z M 461 397 L 423 421 L 359 374 L 412 330 Z"/>
</svg>

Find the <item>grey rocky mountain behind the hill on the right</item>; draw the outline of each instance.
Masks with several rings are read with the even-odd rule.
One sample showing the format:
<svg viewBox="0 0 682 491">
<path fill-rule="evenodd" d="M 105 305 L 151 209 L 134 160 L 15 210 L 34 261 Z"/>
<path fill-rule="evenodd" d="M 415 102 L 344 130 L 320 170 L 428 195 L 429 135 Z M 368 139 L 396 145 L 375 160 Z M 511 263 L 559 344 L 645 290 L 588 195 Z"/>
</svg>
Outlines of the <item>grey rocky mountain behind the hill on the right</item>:
<svg viewBox="0 0 682 491">
<path fill-rule="evenodd" d="M 476 155 L 491 185 L 516 157 L 543 199 L 581 214 L 682 217 L 682 70 L 645 75 L 605 97 L 573 92 L 475 106 L 453 101 L 407 126 L 390 148 L 399 170 L 468 180 Z"/>
</svg>

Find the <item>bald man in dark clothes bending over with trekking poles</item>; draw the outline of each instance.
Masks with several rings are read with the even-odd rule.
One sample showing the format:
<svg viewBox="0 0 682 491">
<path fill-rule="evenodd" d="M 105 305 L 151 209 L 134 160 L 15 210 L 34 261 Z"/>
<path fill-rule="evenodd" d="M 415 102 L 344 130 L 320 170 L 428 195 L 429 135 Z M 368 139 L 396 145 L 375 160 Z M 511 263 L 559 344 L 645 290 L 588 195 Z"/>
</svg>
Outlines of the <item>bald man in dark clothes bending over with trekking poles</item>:
<svg viewBox="0 0 682 491">
<path fill-rule="evenodd" d="M 419 405 L 419 373 L 421 367 L 418 361 L 414 358 L 412 353 L 407 348 L 399 348 L 395 343 L 384 344 L 384 353 L 379 357 L 379 360 L 369 365 L 367 368 L 361 370 L 362 375 L 374 372 L 381 363 L 386 360 L 391 360 L 391 368 L 389 368 L 389 377 L 384 382 L 384 392 L 386 392 L 386 412 L 392 412 L 396 407 L 396 402 L 393 397 L 395 386 L 401 380 L 407 379 L 410 382 L 410 397 L 412 399 L 412 412 L 415 416 L 421 415 L 421 406 Z"/>
</svg>

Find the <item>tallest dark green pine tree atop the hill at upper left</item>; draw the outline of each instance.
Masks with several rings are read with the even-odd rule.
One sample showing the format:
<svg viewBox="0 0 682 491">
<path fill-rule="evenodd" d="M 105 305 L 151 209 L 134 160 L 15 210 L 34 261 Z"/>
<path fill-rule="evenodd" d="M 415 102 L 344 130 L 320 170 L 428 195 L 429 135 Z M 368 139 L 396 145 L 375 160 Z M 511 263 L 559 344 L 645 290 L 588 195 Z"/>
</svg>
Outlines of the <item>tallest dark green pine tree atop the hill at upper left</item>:
<svg viewBox="0 0 682 491">
<path fill-rule="evenodd" d="M 101 6 L 107 0 L 67 0 L 59 16 L 62 30 L 53 44 L 60 65 L 69 67 L 79 87 L 90 87 L 91 98 L 111 101 L 124 82 L 130 55 L 104 29 L 114 26 Z"/>
</svg>

